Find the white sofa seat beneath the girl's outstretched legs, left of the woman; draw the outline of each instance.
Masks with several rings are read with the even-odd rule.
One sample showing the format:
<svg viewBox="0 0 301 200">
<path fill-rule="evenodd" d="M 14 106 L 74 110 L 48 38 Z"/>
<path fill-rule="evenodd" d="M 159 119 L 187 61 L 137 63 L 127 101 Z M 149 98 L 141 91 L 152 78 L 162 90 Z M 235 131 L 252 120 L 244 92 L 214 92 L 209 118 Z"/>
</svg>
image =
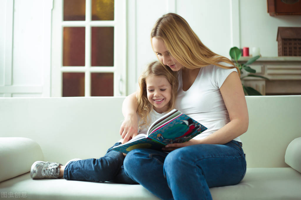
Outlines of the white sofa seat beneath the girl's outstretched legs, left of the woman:
<svg viewBox="0 0 301 200">
<path fill-rule="evenodd" d="M 21 193 L 27 199 L 32 200 L 158 200 L 141 185 L 67 181 L 65 179 L 33 180 L 30 178 L 30 173 L 1 182 L 0 193 L 8 194 L 9 192 L 12 195 Z"/>
</svg>

